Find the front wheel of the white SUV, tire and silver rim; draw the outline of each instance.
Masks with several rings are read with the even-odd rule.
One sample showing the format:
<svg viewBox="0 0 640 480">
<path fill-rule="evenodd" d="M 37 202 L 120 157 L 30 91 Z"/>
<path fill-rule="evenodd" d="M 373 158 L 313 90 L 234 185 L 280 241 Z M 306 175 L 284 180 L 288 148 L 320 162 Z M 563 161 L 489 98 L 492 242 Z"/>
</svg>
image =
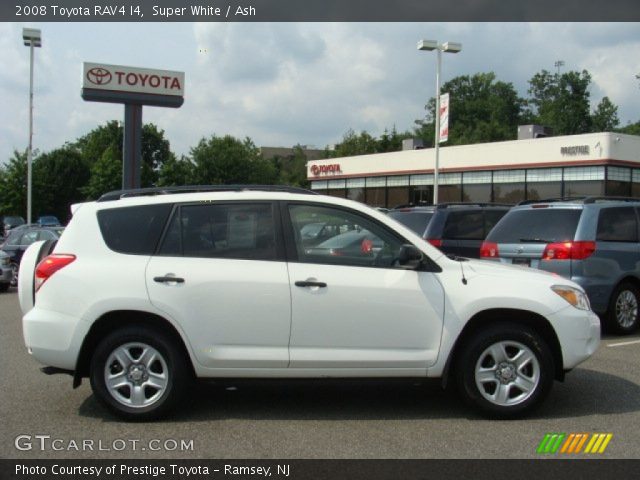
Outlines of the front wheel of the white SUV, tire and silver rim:
<svg viewBox="0 0 640 480">
<path fill-rule="evenodd" d="M 455 376 L 465 401 L 489 418 L 525 416 L 542 403 L 554 380 L 554 360 L 529 327 L 496 323 L 458 350 Z"/>
</svg>

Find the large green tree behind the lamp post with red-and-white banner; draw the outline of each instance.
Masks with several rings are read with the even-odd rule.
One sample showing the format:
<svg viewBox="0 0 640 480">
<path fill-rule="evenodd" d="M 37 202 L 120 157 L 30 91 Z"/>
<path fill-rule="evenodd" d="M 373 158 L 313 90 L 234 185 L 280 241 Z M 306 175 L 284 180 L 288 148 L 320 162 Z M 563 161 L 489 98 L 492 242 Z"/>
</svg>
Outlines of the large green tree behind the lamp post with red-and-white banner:
<svg viewBox="0 0 640 480">
<path fill-rule="evenodd" d="M 449 93 L 449 145 L 496 142 L 516 138 L 525 101 L 511 83 L 496 80 L 493 72 L 462 75 L 444 83 Z M 427 146 L 435 136 L 436 100 L 426 106 L 427 118 L 417 121 L 416 134 Z"/>
</svg>

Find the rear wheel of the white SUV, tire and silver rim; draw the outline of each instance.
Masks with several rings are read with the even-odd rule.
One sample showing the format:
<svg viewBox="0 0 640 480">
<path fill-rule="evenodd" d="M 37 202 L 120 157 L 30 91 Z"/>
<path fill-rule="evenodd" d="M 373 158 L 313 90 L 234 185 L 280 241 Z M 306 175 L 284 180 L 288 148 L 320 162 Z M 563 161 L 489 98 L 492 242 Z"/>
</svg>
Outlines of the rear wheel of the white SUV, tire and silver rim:
<svg viewBox="0 0 640 480">
<path fill-rule="evenodd" d="M 182 349 L 161 331 L 145 326 L 125 327 L 102 340 L 91 358 L 89 376 L 98 400 L 132 421 L 166 415 L 192 381 Z"/>
</svg>

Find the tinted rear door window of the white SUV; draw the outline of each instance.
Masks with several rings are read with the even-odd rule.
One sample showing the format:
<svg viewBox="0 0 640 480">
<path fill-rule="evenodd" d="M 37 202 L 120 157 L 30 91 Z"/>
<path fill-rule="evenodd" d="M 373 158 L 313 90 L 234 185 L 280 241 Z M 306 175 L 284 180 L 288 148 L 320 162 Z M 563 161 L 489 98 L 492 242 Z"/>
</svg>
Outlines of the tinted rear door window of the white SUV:
<svg viewBox="0 0 640 480">
<path fill-rule="evenodd" d="M 167 230 L 160 255 L 275 260 L 270 204 L 183 205 Z"/>
</svg>

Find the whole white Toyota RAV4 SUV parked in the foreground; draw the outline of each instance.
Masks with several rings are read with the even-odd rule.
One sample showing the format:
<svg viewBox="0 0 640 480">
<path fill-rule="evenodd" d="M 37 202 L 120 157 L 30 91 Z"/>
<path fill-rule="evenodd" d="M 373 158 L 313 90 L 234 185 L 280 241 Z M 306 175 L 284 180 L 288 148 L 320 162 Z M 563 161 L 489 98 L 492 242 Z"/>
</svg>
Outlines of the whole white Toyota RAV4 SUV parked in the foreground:
<svg viewBox="0 0 640 480">
<path fill-rule="evenodd" d="M 600 342 L 575 283 L 449 258 L 301 189 L 114 192 L 74 206 L 52 245 L 20 267 L 29 352 L 127 419 L 167 413 L 195 377 L 441 377 L 516 417 Z"/>
</svg>

